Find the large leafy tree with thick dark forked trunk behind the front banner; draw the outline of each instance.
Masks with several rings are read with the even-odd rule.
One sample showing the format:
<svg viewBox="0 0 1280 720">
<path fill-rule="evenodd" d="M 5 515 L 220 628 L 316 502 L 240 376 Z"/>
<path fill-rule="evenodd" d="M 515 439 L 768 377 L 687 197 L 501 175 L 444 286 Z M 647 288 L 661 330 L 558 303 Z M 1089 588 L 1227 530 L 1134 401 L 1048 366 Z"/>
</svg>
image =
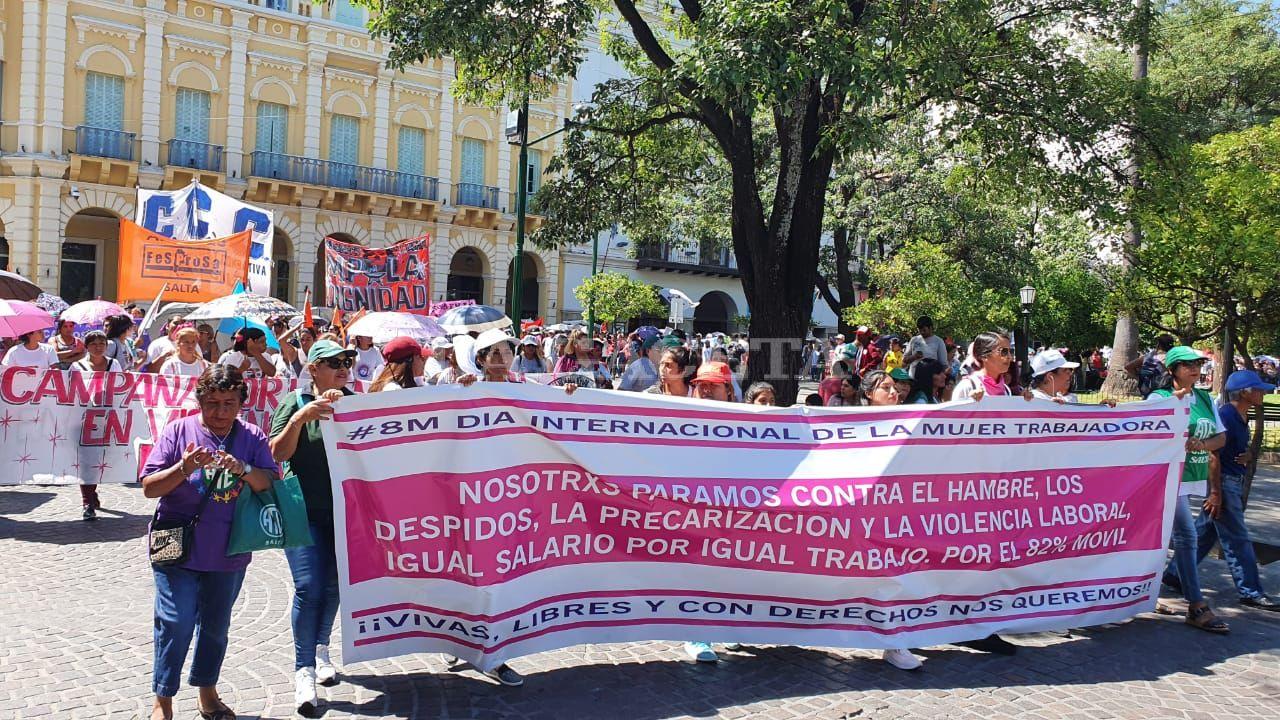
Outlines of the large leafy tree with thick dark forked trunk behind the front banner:
<svg viewBox="0 0 1280 720">
<path fill-rule="evenodd" d="M 710 200 L 727 205 L 754 342 L 794 343 L 753 352 L 749 374 L 773 377 L 783 401 L 837 154 L 874 146 L 882 126 L 922 108 L 940 133 L 975 133 L 1043 164 L 1093 149 L 1107 94 L 1076 38 L 1108 35 L 1130 12 L 1123 0 L 365 4 L 393 64 L 451 55 L 458 90 L 489 100 L 547 92 L 581 63 L 595 13 L 612 18 L 604 46 L 634 78 L 602 87 L 581 118 L 589 129 L 567 140 L 566 181 L 544 187 L 561 201 L 543 205 L 543 232 L 580 241 L 621 222 L 643 236 L 660 227 L 654 213 L 669 211 L 672 191 L 696 202 L 698 188 L 727 177 L 727 195 Z M 771 357 L 783 365 L 768 368 Z"/>
</svg>

